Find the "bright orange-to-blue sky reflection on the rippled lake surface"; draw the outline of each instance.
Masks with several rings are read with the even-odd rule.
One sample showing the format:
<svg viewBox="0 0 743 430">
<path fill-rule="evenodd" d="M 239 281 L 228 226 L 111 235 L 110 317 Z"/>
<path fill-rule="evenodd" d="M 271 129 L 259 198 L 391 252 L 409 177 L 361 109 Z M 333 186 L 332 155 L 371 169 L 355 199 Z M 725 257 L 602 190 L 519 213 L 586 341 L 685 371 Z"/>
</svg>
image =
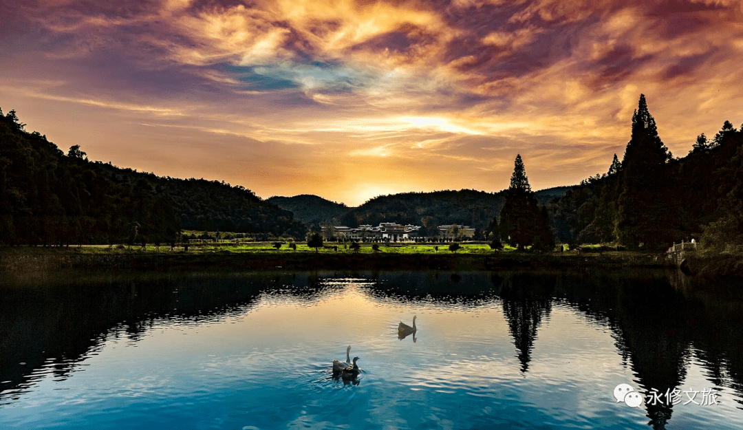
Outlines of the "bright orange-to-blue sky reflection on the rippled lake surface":
<svg viewBox="0 0 743 430">
<path fill-rule="evenodd" d="M 363 284 L 327 282 L 310 299 L 267 292 L 244 313 L 156 320 L 136 341 L 113 330 L 71 377 L 42 376 L 0 407 L 0 423 L 646 428 L 643 410 L 612 397 L 618 383 L 637 384 L 611 331 L 569 305 L 553 302 L 541 319 L 522 373 L 500 299 L 400 302 L 372 298 Z M 398 340 L 398 322 L 410 324 L 413 315 L 417 342 Z M 331 360 L 344 359 L 348 344 L 363 368 L 355 387 L 328 379 Z M 710 386 L 699 363 L 690 363 L 687 385 Z M 671 423 L 736 428 L 739 411 L 720 389 L 727 404 L 677 406 Z"/>
</svg>

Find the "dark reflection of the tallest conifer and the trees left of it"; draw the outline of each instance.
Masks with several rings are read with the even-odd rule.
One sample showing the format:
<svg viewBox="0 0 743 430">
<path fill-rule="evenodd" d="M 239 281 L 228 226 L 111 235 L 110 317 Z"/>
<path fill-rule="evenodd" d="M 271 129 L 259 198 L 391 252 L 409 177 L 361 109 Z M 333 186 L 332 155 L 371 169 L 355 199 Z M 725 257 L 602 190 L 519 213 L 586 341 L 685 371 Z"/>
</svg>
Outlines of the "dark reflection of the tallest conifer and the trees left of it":
<svg viewBox="0 0 743 430">
<path fill-rule="evenodd" d="M 692 307 L 665 279 L 637 273 L 617 275 L 563 277 L 555 297 L 567 300 L 571 307 L 600 324 L 609 325 L 622 362 L 637 375 L 640 386 L 635 388 L 646 400 L 652 388 L 663 394 L 681 388 L 691 332 L 703 324 L 701 319 L 688 320 Z M 653 429 L 665 429 L 672 406 L 645 403 L 643 407 L 649 425 Z"/>
</svg>

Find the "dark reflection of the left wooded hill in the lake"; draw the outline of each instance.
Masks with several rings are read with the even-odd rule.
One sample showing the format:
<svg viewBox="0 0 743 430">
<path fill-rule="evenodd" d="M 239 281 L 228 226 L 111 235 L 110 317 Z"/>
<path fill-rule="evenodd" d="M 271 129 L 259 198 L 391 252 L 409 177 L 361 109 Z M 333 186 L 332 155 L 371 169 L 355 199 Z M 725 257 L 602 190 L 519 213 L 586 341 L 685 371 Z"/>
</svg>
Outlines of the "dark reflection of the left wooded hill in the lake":
<svg viewBox="0 0 743 430">
<path fill-rule="evenodd" d="M 13 400 L 39 368 L 68 377 L 111 337 L 137 342 L 156 319 L 198 322 L 242 313 L 270 283 L 260 277 L 124 276 L 2 288 L 0 381 L 10 382 L 2 385 L 0 399 Z"/>
</svg>

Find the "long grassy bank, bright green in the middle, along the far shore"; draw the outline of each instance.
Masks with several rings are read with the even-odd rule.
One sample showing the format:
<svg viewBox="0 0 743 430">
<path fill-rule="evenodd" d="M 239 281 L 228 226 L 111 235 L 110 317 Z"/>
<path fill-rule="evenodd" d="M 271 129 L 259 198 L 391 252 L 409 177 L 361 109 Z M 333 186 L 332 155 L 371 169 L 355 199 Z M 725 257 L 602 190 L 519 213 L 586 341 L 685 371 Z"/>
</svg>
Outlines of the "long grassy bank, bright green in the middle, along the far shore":
<svg viewBox="0 0 743 430">
<path fill-rule="evenodd" d="M 334 245 L 335 246 L 335 245 Z M 445 249 L 445 250 L 444 250 Z M 33 271 L 53 268 L 103 268 L 134 270 L 208 270 L 210 268 L 293 270 L 530 270 L 545 267 L 664 267 L 663 255 L 611 251 L 586 253 L 494 252 L 484 244 L 464 244 L 457 253 L 446 245 L 380 246 L 379 252 L 364 246 L 352 253 L 343 245 L 324 247 L 317 252 L 306 245 L 296 250 L 276 250 L 270 244 L 225 246 L 41 248 L 0 249 L 0 270 Z"/>
</svg>

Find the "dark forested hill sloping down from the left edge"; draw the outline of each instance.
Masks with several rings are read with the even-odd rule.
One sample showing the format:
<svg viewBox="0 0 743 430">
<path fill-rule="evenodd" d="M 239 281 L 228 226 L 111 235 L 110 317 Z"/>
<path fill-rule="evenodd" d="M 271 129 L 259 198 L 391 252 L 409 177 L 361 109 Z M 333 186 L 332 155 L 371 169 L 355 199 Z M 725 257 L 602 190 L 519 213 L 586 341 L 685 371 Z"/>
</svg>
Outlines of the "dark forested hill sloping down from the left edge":
<svg viewBox="0 0 743 430">
<path fill-rule="evenodd" d="M 171 241 L 180 229 L 303 238 L 291 212 L 240 186 L 183 180 L 65 155 L 0 111 L 0 244 Z"/>
</svg>

